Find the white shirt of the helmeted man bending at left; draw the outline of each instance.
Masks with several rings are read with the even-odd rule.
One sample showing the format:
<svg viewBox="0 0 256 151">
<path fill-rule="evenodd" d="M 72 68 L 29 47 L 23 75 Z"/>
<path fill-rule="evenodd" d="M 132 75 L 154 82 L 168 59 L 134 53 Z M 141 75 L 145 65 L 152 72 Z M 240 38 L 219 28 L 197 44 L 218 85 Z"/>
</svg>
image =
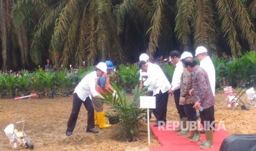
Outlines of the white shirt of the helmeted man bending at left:
<svg viewBox="0 0 256 151">
<path fill-rule="evenodd" d="M 77 93 L 78 97 L 83 101 L 85 101 L 88 96 L 91 98 L 91 93 L 93 96 L 99 95 L 95 90 L 95 84 L 98 78 L 96 71 L 85 75 L 77 87 L 75 87 L 74 93 Z"/>
</svg>

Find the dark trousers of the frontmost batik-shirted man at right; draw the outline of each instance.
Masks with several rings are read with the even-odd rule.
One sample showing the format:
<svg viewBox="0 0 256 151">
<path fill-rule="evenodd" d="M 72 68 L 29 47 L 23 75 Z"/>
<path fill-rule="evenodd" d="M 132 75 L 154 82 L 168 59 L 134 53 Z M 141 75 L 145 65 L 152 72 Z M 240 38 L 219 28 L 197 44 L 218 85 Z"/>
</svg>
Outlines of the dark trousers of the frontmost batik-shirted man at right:
<svg viewBox="0 0 256 151">
<path fill-rule="evenodd" d="M 199 113 L 200 113 L 201 124 L 204 126 L 204 130 L 211 129 L 211 127 L 209 127 L 210 125 L 208 125 L 211 123 L 214 123 L 213 127 L 215 128 L 214 106 L 206 108 L 202 112 L 199 111 Z M 204 121 L 207 121 L 206 125 Z"/>
</svg>

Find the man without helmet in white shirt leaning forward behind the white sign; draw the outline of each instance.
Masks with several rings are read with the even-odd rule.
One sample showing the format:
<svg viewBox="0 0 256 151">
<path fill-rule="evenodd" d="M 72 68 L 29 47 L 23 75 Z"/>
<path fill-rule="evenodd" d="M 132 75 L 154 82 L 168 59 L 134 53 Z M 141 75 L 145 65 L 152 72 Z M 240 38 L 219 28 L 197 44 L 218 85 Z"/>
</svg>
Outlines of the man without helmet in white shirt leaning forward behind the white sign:
<svg viewBox="0 0 256 151">
<path fill-rule="evenodd" d="M 148 90 L 153 91 L 152 96 L 156 97 L 156 108 L 153 113 L 158 122 L 154 126 L 164 126 L 160 123 L 166 123 L 168 90 L 171 84 L 158 65 L 145 61 L 139 61 L 138 65 L 143 72 L 148 73 Z"/>
</svg>

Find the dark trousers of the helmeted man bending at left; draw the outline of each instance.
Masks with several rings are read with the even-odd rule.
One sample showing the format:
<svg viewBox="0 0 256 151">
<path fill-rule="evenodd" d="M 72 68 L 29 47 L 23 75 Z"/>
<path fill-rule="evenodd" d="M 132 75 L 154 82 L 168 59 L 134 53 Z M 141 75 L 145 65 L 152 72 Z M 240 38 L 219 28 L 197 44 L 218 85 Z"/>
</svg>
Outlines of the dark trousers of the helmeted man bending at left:
<svg viewBox="0 0 256 151">
<path fill-rule="evenodd" d="M 80 112 L 81 104 L 84 104 L 85 109 L 88 111 L 87 114 L 87 128 L 94 128 L 94 107 L 90 97 L 87 97 L 85 101 L 81 100 L 75 93 L 73 97 L 73 107 L 68 120 L 67 130 L 73 132 L 75 129 L 75 124 L 77 124 L 78 114 Z"/>
</svg>

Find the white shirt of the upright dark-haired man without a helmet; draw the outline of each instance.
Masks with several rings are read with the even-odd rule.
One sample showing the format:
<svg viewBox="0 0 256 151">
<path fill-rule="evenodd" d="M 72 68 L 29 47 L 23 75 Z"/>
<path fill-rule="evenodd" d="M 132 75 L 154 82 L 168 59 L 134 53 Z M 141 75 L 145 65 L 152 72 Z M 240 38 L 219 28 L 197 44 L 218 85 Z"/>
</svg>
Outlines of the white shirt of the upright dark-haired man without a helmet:
<svg viewBox="0 0 256 151">
<path fill-rule="evenodd" d="M 183 72 L 184 67 L 182 66 L 182 62 L 178 61 L 176 63 L 176 67 L 174 69 L 173 75 L 172 75 L 172 91 L 175 91 L 180 88 L 181 84 L 181 74 Z"/>
</svg>

